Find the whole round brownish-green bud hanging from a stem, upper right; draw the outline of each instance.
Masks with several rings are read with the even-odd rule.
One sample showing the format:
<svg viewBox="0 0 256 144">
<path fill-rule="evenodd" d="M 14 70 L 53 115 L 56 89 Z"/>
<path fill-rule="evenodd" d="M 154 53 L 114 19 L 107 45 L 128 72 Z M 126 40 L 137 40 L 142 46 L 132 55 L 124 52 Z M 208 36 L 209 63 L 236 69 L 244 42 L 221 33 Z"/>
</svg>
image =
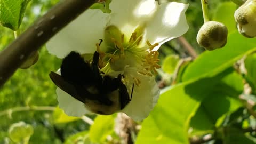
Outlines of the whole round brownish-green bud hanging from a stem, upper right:
<svg viewBox="0 0 256 144">
<path fill-rule="evenodd" d="M 205 49 L 212 51 L 226 45 L 228 36 L 227 27 L 217 21 L 208 21 L 197 33 L 197 43 Z"/>
</svg>

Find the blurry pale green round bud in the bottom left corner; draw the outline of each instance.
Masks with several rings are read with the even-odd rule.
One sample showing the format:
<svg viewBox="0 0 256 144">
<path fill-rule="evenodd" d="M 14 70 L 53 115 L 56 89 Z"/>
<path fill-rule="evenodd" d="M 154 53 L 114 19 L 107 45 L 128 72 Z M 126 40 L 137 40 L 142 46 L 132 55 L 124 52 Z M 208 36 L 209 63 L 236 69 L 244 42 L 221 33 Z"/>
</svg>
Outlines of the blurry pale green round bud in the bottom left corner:
<svg viewBox="0 0 256 144">
<path fill-rule="evenodd" d="M 16 143 L 28 143 L 28 140 L 34 133 L 34 130 L 30 124 L 19 122 L 12 124 L 8 133 L 12 141 Z"/>
</svg>

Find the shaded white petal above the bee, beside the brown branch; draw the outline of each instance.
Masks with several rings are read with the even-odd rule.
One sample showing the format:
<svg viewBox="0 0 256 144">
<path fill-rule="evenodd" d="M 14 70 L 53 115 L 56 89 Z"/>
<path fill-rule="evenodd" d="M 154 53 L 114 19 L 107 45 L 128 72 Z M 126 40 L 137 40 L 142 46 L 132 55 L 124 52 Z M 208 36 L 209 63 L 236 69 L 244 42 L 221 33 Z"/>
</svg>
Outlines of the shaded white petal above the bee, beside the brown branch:
<svg viewBox="0 0 256 144">
<path fill-rule="evenodd" d="M 49 53 L 64 58 L 70 51 L 93 53 L 103 38 L 108 14 L 101 10 L 86 10 L 46 43 Z"/>
</svg>

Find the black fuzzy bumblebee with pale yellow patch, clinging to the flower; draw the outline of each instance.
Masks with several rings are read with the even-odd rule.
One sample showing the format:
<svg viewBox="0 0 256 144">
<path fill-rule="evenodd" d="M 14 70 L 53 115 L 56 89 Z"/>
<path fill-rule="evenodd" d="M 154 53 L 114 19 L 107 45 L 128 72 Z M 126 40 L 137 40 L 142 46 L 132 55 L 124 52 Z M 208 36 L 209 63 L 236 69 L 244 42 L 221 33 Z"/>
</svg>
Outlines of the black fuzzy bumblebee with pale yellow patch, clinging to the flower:
<svg viewBox="0 0 256 144">
<path fill-rule="evenodd" d="M 83 102 L 96 114 L 111 115 L 122 110 L 132 99 L 122 82 L 123 75 L 105 75 L 100 71 L 99 53 L 93 54 L 92 62 L 85 61 L 78 52 L 70 52 L 62 61 L 61 75 L 51 71 L 50 78 L 61 90 Z"/>
</svg>

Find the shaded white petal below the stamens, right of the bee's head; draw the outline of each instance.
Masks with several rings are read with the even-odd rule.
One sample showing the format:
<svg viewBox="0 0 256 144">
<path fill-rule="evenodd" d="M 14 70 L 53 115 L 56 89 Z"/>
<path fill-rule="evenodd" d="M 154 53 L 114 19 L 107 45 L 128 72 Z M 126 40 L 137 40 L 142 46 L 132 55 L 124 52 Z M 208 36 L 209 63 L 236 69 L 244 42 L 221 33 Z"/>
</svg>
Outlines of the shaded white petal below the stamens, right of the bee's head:
<svg viewBox="0 0 256 144">
<path fill-rule="evenodd" d="M 139 87 L 134 85 L 131 102 L 122 110 L 134 121 L 141 121 L 148 117 L 160 94 L 155 77 L 143 76 L 140 80 Z"/>
</svg>

